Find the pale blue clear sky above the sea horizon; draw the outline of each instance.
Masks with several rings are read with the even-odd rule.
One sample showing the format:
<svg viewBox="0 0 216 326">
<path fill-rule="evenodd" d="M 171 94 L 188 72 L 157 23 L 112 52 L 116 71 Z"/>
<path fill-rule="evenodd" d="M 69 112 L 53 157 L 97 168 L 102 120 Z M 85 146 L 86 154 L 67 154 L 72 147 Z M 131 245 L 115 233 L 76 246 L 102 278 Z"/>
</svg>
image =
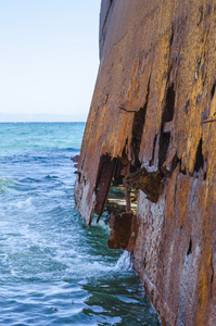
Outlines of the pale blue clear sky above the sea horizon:
<svg viewBox="0 0 216 326">
<path fill-rule="evenodd" d="M 0 121 L 11 114 L 86 120 L 99 65 L 100 3 L 0 0 Z"/>
</svg>

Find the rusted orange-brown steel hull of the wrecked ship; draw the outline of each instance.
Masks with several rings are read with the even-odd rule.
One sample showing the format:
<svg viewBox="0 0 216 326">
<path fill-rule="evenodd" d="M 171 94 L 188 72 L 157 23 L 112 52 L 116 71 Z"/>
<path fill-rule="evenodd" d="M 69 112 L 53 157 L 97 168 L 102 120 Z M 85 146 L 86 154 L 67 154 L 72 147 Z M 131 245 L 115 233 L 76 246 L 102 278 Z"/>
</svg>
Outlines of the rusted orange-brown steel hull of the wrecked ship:
<svg viewBox="0 0 216 326">
<path fill-rule="evenodd" d="M 162 172 L 155 202 L 139 190 L 136 271 L 163 325 L 216 325 L 216 1 L 103 0 L 100 24 L 77 209 L 101 213 L 104 155 Z"/>
</svg>

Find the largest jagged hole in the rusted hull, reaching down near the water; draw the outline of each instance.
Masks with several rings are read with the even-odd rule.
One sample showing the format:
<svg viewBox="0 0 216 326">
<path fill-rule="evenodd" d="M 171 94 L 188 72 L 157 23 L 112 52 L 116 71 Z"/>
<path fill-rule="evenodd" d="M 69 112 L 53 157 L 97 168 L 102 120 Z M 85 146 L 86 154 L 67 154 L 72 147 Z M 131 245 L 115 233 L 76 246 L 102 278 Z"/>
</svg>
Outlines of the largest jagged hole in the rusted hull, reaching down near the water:
<svg viewBox="0 0 216 326">
<path fill-rule="evenodd" d="M 126 154 L 126 147 L 118 160 L 114 183 L 111 187 L 106 210 L 111 213 L 110 227 L 111 238 L 109 247 L 114 249 L 134 250 L 137 237 L 137 201 L 138 190 L 131 189 L 127 183 L 129 173 L 136 172 L 140 168 L 139 152 L 143 126 L 145 122 L 147 103 L 135 113 L 132 124 L 132 139 L 131 139 L 131 162 Z"/>
</svg>

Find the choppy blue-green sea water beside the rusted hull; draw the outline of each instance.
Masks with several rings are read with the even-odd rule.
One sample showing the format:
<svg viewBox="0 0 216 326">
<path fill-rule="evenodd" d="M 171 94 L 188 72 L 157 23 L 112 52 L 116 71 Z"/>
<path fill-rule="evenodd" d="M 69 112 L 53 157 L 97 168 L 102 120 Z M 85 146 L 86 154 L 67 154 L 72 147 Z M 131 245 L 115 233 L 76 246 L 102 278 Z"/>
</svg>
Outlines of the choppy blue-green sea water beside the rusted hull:
<svg viewBox="0 0 216 326">
<path fill-rule="evenodd" d="M 84 129 L 0 124 L 0 325 L 160 325 L 105 221 L 76 211 Z"/>
</svg>

